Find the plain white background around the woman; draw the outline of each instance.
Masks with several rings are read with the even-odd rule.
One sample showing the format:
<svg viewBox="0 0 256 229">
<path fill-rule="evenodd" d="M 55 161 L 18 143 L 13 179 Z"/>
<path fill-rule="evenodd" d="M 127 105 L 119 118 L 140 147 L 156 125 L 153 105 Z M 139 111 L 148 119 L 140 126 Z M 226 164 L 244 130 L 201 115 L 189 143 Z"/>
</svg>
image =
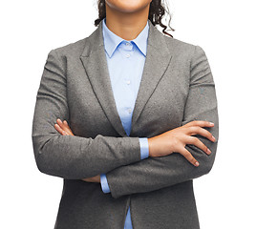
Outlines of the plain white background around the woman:
<svg viewBox="0 0 256 229">
<path fill-rule="evenodd" d="M 48 52 L 96 30 L 96 0 L 10 0 L 0 9 L 0 228 L 53 228 L 62 179 L 35 164 L 35 96 Z M 253 1 L 170 0 L 169 9 L 176 30 L 169 32 L 203 48 L 216 84 L 217 156 L 212 171 L 194 180 L 201 227 L 256 228 Z"/>
</svg>

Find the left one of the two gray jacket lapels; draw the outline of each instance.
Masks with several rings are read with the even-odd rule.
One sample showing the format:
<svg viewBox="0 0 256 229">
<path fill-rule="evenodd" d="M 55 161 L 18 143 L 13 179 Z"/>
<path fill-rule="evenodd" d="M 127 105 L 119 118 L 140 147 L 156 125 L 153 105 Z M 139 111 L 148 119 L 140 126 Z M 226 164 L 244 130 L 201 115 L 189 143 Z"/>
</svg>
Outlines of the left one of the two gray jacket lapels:
<svg viewBox="0 0 256 229">
<path fill-rule="evenodd" d="M 117 112 L 104 50 L 102 21 L 86 40 L 80 59 L 107 118 L 121 136 L 127 136 Z"/>
</svg>

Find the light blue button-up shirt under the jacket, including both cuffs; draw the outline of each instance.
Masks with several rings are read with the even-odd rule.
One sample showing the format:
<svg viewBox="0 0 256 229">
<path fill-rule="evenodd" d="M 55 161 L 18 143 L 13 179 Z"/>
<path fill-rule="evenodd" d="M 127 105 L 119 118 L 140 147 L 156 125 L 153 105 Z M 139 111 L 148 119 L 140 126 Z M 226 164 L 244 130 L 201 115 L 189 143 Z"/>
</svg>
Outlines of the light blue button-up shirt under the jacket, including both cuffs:
<svg viewBox="0 0 256 229">
<path fill-rule="evenodd" d="M 139 35 L 127 41 L 110 31 L 103 19 L 102 32 L 112 91 L 116 100 L 117 112 L 127 135 L 131 132 L 132 114 L 139 92 L 139 84 L 147 51 L 148 22 Z M 139 137 L 140 158 L 149 156 L 148 138 Z M 110 193 L 107 177 L 100 175 L 101 188 Z M 132 229 L 130 207 L 128 209 L 124 229 Z"/>
</svg>

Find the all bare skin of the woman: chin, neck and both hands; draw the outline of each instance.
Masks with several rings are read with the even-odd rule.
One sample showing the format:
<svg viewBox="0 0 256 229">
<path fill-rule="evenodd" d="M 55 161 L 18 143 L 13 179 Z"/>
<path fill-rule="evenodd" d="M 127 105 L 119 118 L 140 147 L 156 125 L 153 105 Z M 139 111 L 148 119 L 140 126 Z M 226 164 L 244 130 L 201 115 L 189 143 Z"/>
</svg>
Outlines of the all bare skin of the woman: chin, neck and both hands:
<svg viewBox="0 0 256 229">
<path fill-rule="evenodd" d="M 107 27 L 125 40 L 135 39 L 146 26 L 151 1 L 105 0 Z M 149 156 L 167 156 L 174 152 L 180 153 L 191 164 L 198 167 L 199 163 L 196 158 L 184 147 L 186 144 L 193 144 L 202 149 L 205 154 L 210 155 L 203 142 L 193 135 L 203 135 L 214 142 L 214 136 L 203 129 L 203 127 L 213 126 L 214 124 L 208 121 L 195 120 L 161 135 L 150 137 L 148 138 Z M 57 118 L 54 128 L 61 135 L 74 135 L 66 120 L 62 122 Z M 100 182 L 100 175 L 83 178 L 82 180 Z"/>
</svg>

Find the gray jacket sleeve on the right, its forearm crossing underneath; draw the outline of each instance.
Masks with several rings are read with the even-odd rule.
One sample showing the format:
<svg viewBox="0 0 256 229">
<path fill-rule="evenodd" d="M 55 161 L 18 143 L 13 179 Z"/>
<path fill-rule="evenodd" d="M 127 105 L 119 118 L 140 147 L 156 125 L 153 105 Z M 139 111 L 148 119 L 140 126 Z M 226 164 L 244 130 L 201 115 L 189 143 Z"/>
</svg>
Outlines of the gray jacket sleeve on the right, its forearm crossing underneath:
<svg viewBox="0 0 256 229">
<path fill-rule="evenodd" d="M 215 83 L 205 52 L 200 46 L 195 46 L 191 57 L 189 93 L 181 125 L 193 120 L 207 120 L 215 124 L 214 127 L 203 127 L 215 136 L 215 142 L 203 135 L 194 135 L 211 150 L 209 156 L 195 145 L 185 145 L 199 161 L 199 167 L 192 165 L 179 153 L 148 157 L 120 166 L 106 174 L 112 197 L 158 190 L 201 177 L 212 169 L 219 138 L 219 117 Z"/>
</svg>

